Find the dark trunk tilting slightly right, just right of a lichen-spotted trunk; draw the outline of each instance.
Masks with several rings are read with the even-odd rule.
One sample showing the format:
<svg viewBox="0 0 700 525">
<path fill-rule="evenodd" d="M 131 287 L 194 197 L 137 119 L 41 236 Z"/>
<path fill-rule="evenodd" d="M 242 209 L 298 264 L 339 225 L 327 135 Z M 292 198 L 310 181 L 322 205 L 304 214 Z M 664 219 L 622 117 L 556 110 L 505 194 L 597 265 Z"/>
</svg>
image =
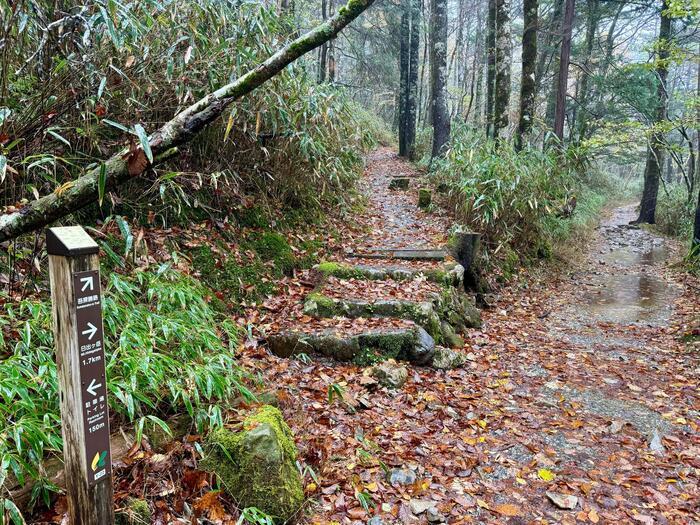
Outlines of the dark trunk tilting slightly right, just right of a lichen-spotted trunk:
<svg viewBox="0 0 700 525">
<path fill-rule="evenodd" d="M 537 67 L 538 0 L 523 0 L 523 54 L 522 79 L 520 81 L 520 121 L 516 148 L 522 149 L 527 142 L 532 121 L 535 118 L 535 69 Z"/>
</svg>

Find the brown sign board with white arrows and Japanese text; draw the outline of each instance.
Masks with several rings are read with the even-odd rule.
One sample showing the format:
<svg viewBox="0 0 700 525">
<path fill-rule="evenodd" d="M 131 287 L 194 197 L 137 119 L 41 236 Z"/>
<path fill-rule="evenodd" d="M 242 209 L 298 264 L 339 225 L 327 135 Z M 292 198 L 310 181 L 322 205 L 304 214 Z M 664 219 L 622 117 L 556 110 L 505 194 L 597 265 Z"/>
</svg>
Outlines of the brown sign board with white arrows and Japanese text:
<svg viewBox="0 0 700 525">
<path fill-rule="evenodd" d="M 81 411 L 85 428 L 88 485 L 111 475 L 109 407 L 102 333 L 102 297 L 98 271 L 73 274 L 80 357 Z"/>
</svg>

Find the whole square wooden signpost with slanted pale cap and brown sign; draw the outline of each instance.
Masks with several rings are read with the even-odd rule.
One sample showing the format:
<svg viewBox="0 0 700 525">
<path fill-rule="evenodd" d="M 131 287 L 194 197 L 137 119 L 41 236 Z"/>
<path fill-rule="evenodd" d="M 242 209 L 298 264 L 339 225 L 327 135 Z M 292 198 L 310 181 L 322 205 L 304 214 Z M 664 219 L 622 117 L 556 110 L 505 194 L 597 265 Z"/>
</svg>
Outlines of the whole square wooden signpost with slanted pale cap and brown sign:
<svg viewBox="0 0 700 525">
<path fill-rule="evenodd" d="M 80 226 L 46 234 L 72 525 L 113 525 L 99 248 Z"/>
</svg>

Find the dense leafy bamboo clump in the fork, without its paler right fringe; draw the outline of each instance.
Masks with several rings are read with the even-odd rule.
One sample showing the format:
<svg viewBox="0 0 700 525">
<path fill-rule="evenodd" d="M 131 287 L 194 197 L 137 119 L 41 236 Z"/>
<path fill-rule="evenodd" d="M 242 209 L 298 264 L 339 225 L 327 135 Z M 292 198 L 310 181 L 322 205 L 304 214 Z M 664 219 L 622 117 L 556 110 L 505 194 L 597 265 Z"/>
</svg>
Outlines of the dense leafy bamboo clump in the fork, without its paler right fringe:
<svg viewBox="0 0 700 525">
<path fill-rule="evenodd" d="M 460 219 L 494 247 L 534 254 L 542 221 L 557 214 L 580 187 L 570 161 L 558 152 L 522 152 L 458 128 L 444 159 L 435 162 Z"/>
</svg>

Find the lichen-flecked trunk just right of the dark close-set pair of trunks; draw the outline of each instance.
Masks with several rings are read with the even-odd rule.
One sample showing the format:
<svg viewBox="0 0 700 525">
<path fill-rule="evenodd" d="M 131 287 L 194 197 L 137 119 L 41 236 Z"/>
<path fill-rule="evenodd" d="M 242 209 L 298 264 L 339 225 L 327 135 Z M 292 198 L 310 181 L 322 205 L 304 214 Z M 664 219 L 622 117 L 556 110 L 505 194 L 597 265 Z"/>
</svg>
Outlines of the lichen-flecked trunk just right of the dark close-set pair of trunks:
<svg viewBox="0 0 700 525">
<path fill-rule="evenodd" d="M 450 116 L 447 112 L 447 0 L 431 2 L 432 38 L 430 72 L 432 84 L 433 151 L 442 155 L 450 140 Z"/>
</svg>

